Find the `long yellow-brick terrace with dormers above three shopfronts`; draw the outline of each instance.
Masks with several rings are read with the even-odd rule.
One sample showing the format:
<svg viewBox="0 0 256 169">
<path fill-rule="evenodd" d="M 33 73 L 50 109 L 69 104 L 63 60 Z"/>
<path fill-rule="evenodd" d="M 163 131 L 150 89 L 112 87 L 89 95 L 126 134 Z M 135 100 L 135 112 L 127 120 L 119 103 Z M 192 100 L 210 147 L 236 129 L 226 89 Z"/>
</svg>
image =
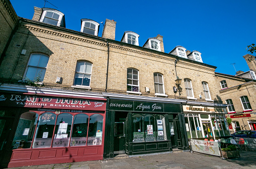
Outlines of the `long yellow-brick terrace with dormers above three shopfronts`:
<svg viewBox="0 0 256 169">
<path fill-rule="evenodd" d="M 188 138 L 229 135 L 216 67 L 199 51 L 166 53 L 159 34 L 143 46 L 132 31 L 117 41 L 109 19 L 102 37 L 92 19 L 74 31 L 61 11 L 34 10 L 4 16 L 19 24 L 0 62 L 3 166 L 188 150 Z"/>
</svg>

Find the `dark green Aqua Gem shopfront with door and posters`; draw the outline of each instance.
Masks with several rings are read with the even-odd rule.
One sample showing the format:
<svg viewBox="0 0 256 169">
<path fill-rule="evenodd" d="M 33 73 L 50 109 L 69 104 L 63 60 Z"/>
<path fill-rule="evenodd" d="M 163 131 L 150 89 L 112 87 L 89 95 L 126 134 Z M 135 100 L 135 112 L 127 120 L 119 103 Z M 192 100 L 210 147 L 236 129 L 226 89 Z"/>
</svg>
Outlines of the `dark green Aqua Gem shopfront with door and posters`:
<svg viewBox="0 0 256 169">
<path fill-rule="evenodd" d="M 181 103 L 109 99 L 106 112 L 104 158 L 188 149 Z"/>
</svg>

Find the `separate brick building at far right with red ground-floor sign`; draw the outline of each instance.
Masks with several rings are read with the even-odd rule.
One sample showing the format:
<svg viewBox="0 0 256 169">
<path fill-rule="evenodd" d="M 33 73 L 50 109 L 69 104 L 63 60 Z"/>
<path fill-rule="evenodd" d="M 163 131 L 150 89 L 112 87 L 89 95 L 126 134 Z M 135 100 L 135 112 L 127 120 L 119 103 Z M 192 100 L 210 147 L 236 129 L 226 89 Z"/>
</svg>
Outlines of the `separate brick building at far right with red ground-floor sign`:
<svg viewBox="0 0 256 169">
<path fill-rule="evenodd" d="M 239 70 L 236 75 L 215 72 L 220 96 L 223 102 L 228 104 L 226 117 L 232 119 L 229 125 L 230 132 L 256 129 L 256 61 L 255 56 L 251 54 L 246 54 L 243 58 L 249 66 L 249 71 Z"/>
</svg>

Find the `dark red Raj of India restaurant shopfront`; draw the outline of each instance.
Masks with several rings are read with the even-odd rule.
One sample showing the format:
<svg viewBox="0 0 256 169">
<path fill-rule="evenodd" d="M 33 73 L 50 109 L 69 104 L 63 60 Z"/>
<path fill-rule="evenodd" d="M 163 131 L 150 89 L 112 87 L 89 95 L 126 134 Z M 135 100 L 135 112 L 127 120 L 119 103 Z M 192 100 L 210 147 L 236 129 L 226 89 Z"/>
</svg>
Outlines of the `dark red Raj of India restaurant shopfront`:
<svg viewBox="0 0 256 169">
<path fill-rule="evenodd" d="M 0 93 L 0 163 L 103 159 L 106 99 Z"/>
</svg>

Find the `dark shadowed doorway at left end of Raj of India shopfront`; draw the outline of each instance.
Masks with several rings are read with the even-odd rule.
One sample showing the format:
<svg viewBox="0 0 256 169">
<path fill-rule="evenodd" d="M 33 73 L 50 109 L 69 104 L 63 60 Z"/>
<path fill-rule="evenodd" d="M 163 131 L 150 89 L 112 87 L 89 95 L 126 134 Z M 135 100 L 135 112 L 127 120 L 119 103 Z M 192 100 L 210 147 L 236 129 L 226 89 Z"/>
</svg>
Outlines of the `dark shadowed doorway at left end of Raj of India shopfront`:
<svg viewBox="0 0 256 169">
<path fill-rule="evenodd" d="M 0 168 L 6 167 L 2 166 L 3 163 L 6 163 L 10 158 L 9 153 L 7 153 L 8 149 L 11 149 L 12 145 L 12 134 L 10 134 L 11 129 L 13 127 L 14 118 L 6 118 L 0 116 Z M 6 158 L 6 159 L 4 159 Z"/>
</svg>

